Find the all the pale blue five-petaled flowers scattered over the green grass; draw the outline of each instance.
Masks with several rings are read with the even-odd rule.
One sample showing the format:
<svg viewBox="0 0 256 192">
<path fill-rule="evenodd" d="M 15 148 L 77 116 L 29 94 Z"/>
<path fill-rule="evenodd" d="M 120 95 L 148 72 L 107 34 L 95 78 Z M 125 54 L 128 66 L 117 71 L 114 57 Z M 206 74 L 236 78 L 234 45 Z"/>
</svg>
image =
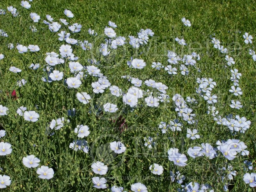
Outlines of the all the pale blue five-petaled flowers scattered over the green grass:
<svg viewBox="0 0 256 192">
<path fill-rule="evenodd" d="M 31 8 L 31 4 L 28 1 L 21 1 L 20 5 L 26 10 L 29 10 Z M 17 17 L 20 14 L 18 10 L 13 6 L 7 7 L 7 10 L 12 14 L 13 17 Z M 0 14 L 6 14 L 5 10 L 1 9 Z M 232 166 L 231 162 L 239 155 L 242 156 L 241 158 L 243 158 L 243 156 L 249 156 L 249 150 L 247 150 L 248 147 L 245 144 L 246 141 L 244 139 L 226 138 L 227 140 L 215 140 L 214 144 L 208 143 L 206 140 L 202 142 L 203 140 L 201 139 L 204 139 L 205 135 L 201 133 L 200 127 L 197 127 L 199 121 L 196 115 L 197 110 L 193 108 L 193 106 L 199 104 L 199 100 L 190 98 L 189 96 L 184 99 L 185 97 L 183 98 L 182 94 L 176 92 L 173 92 L 174 94 L 172 95 L 172 97 L 170 97 L 167 93 L 170 93 L 171 86 L 169 84 L 166 85 L 166 83 L 164 84 L 164 81 L 157 82 L 156 79 L 154 80 L 151 78 L 139 79 L 135 76 L 131 76 L 131 74 L 127 74 L 125 76 L 122 76 L 121 78 L 128 81 L 128 87 L 114 85 L 116 82 L 112 82 L 112 80 L 108 78 L 108 71 L 102 70 L 102 68 L 100 68 L 99 64 L 102 62 L 101 60 L 88 59 L 84 62 L 81 58 L 79 58 L 80 55 L 78 52 L 76 52 L 77 49 L 81 49 L 84 52 L 91 52 L 92 49 L 95 47 L 92 41 L 89 42 L 88 40 L 84 39 L 76 39 L 76 37 L 80 38 L 80 36 L 76 36 L 76 33 L 84 30 L 84 26 L 79 23 L 69 23 L 70 21 L 72 21 L 70 20 L 70 18 L 74 17 L 74 14 L 70 10 L 65 9 L 64 14 L 66 16 L 66 19 L 59 19 L 58 21 L 56 20 L 56 18 L 52 18 L 52 16 L 48 14 L 46 15 L 46 20 L 42 20 L 40 15 L 35 12 L 31 12 L 29 15 L 27 15 L 31 23 L 35 25 L 30 26 L 32 33 L 36 33 L 38 30 L 40 30 L 36 29 L 36 23 L 43 22 L 47 30 L 49 30 L 53 34 L 56 34 L 56 37 L 59 40 L 58 42 L 61 45 L 58 45 L 57 50 L 52 51 L 52 49 L 49 48 L 47 51 L 51 52 L 45 53 L 44 58 L 40 61 L 40 64 L 36 63 L 37 61 L 35 63 L 29 63 L 29 67 L 26 70 L 31 70 L 38 73 L 43 72 L 41 74 L 42 76 L 40 76 L 40 82 L 42 84 L 46 84 L 47 86 L 49 85 L 49 87 L 58 83 L 61 84 L 62 88 L 67 90 L 67 92 L 71 94 L 74 93 L 74 98 L 78 103 L 79 107 L 88 107 L 90 109 L 88 113 L 91 115 L 94 115 L 92 113 L 92 110 L 95 110 L 95 108 L 97 108 L 97 115 L 107 114 L 109 121 L 113 120 L 111 119 L 111 115 L 123 113 L 123 111 L 121 111 L 122 108 L 126 108 L 127 111 L 133 112 L 142 107 L 147 109 L 158 109 L 166 104 L 173 105 L 177 116 L 168 118 L 161 117 L 161 120 L 156 123 L 159 130 L 163 133 L 160 135 L 164 137 L 169 133 L 173 135 L 185 133 L 186 142 L 191 142 L 189 143 L 191 145 L 188 148 L 181 149 L 180 147 L 176 148 L 173 144 L 172 148 L 168 147 L 169 150 L 166 150 L 167 154 L 165 154 L 165 157 L 166 159 L 168 158 L 170 161 L 168 163 L 175 167 L 175 170 L 173 169 L 171 172 L 169 171 L 171 177 L 170 181 L 180 185 L 180 188 L 178 188 L 177 191 L 213 192 L 213 185 L 210 185 L 208 183 L 200 184 L 193 180 L 187 180 L 187 176 L 183 175 L 184 173 L 182 173 L 181 168 L 189 166 L 188 164 L 192 161 L 196 161 L 197 158 L 206 159 L 207 161 L 211 161 L 214 158 L 222 158 L 222 160 L 228 162 L 228 165 L 227 167 L 221 167 L 218 170 L 218 174 L 221 176 L 221 180 L 223 182 L 226 182 L 224 183 L 224 190 L 228 191 L 228 186 L 230 184 L 229 181 L 233 180 L 233 178 L 238 174 L 238 172 Z M 185 17 L 183 17 L 181 21 L 185 27 L 191 27 L 191 22 Z M 102 29 L 101 32 L 104 38 L 102 42 L 100 42 L 99 47 L 96 48 L 97 52 L 99 52 L 100 54 L 100 57 L 108 58 L 112 53 L 115 53 L 118 49 L 121 49 L 124 46 L 129 46 L 129 48 L 135 50 L 138 50 L 141 47 L 146 47 L 150 41 L 150 38 L 155 35 L 151 29 L 147 28 L 140 29 L 136 36 L 130 35 L 127 39 L 124 36 L 119 35 L 116 28 L 117 25 L 114 22 L 109 21 L 108 26 Z M 87 29 L 87 32 L 91 37 L 98 36 L 98 33 L 91 28 Z M 5 38 L 8 37 L 8 34 L 4 30 L 0 29 L 0 36 L 3 36 L 3 38 Z M 243 37 L 245 44 L 252 44 L 253 37 L 251 35 L 245 33 Z M 179 46 L 183 47 L 187 45 L 184 38 L 180 39 L 179 37 L 176 37 L 175 41 L 179 44 Z M 225 54 L 226 61 L 224 62 L 228 65 L 225 66 L 225 68 L 235 65 L 235 60 L 228 55 L 228 53 L 230 53 L 231 51 L 221 45 L 220 40 L 212 37 L 211 42 L 215 49 Z M 34 45 L 32 44 L 32 42 L 31 44 L 26 45 L 14 45 L 13 43 L 9 43 L 7 45 L 8 49 L 15 50 L 15 52 L 19 55 L 36 55 L 38 54 L 38 52 L 42 52 L 40 49 L 41 46 L 43 47 L 43 45 Z M 170 78 L 178 75 L 186 78 L 191 74 L 190 71 L 193 71 L 194 68 L 198 72 L 200 71 L 200 69 L 196 66 L 197 62 L 200 62 L 201 60 L 201 57 L 198 53 L 192 52 L 191 54 L 177 54 L 176 52 L 176 50 L 168 50 L 167 55 L 165 55 L 166 59 L 168 58 L 167 60 L 165 60 L 167 64 L 164 62 L 161 63 L 159 62 L 159 60 L 155 60 L 152 62 L 150 68 L 149 63 L 151 62 L 149 62 L 147 59 L 142 59 L 142 56 L 137 55 L 136 58 L 131 57 L 130 59 L 129 57 L 129 60 L 125 60 L 124 63 L 127 63 L 127 66 L 126 64 L 124 65 L 127 69 L 131 71 L 137 71 L 138 74 L 148 67 L 152 70 L 155 70 L 156 72 L 161 72 L 162 70 L 164 71 L 166 76 Z M 249 53 L 250 55 L 252 55 L 252 59 L 256 60 L 255 52 L 253 50 L 250 50 Z M 4 54 L 0 54 L 1 61 L 6 60 Z M 12 62 L 12 64 L 16 65 L 17 63 L 15 64 L 15 62 Z M 15 80 L 15 85 L 17 87 L 27 86 L 27 84 L 31 83 L 29 82 L 31 80 L 28 77 L 24 76 L 24 68 L 20 69 L 18 67 L 10 66 L 7 68 L 7 72 L 18 79 L 17 82 L 17 79 Z M 242 74 L 238 73 L 238 69 L 236 68 L 230 69 L 230 72 L 230 81 L 232 82 L 232 85 L 229 89 L 229 92 L 232 93 L 232 97 L 235 96 L 236 98 L 239 98 L 243 95 L 243 91 L 239 87 L 239 80 L 242 77 Z M 89 78 L 90 81 L 88 82 L 90 82 L 90 84 L 88 87 L 86 87 L 84 81 Z M 217 83 L 213 80 L 213 78 L 202 77 L 195 78 L 194 80 L 195 84 L 197 83 L 195 88 L 196 93 L 199 95 L 199 99 L 201 98 L 202 102 L 207 105 L 208 110 L 206 113 L 212 116 L 211 118 L 216 122 L 215 124 L 223 125 L 225 126 L 225 129 L 227 127 L 228 132 L 231 133 L 234 138 L 237 138 L 237 134 L 244 134 L 250 128 L 251 121 L 247 120 L 246 117 L 242 116 L 243 114 L 237 114 L 235 115 L 235 117 L 233 117 L 232 114 L 229 114 L 227 116 L 226 114 L 219 114 L 219 110 L 217 110 L 219 98 L 218 94 L 215 93 Z M 146 89 L 144 89 L 145 87 Z M 108 95 L 108 93 L 111 97 L 115 99 L 120 99 L 121 102 L 109 98 L 107 98 L 106 100 L 102 99 L 105 95 Z M 94 103 L 94 97 L 100 98 L 99 100 L 102 103 Z M 69 119 L 64 116 L 57 116 L 56 114 L 47 114 L 48 121 L 45 124 L 41 122 L 41 118 L 42 116 L 46 115 L 43 111 L 41 113 L 41 111 L 38 110 L 36 106 L 35 108 L 33 108 L 32 105 L 26 104 L 20 104 L 19 106 L 20 107 L 15 108 L 16 113 L 14 112 L 14 114 L 12 114 L 12 110 L 9 110 L 9 108 L 11 109 L 12 106 L 9 105 L 9 103 L 6 104 L 6 106 L 4 106 L 4 104 L 1 104 L 0 117 L 5 118 L 11 115 L 15 115 L 17 117 L 21 117 L 22 120 L 24 120 L 24 124 L 34 125 L 37 123 L 39 124 L 40 122 L 41 124 L 38 126 L 45 129 L 45 135 L 49 138 L 51 138 L 51 136 L 56 132 L 64 131 L 63 129 L 66 125 L 70 125 L 70 135 L 73 135 L 68 141 L 69 146 L 68 144 L 66 145 L 68 151 L 71 151 L 76 156 L 78 153 L 79 155 L 86 155 L 89 153 L 89 150 L 92 150 L 91 148 L 89 148 L 90 142 L 93 142 L 91 141 L 90 136 L 95 139 L 95 129 L 92 128 L 92 124 L 90 124 L 89 121 L 86 120 L 85 122 L 85 118 L 82 118 L 82 120 L 74 120 L 75 118 L 73 117 L 76 116 L 76 113 L 80 113 L 80 111 L 79 109 L 77 110 L 76 108 L 73 108 L 73 105 L 71 107 L 72 109 L 67 110 L 68 118 L 70 117 Z M 236 99 L 232 99 L 231 104 L 228 104 L 228 106 L 230 106 L 231 109 L 243 108 L 241 101 Z M 128 114 L 128 112 L 126 114 Z M 136 117 L 138 116 L 137 112 L 134 112 L 133 114 L 135 114 Z M 57 116 L 57 118 L 55 115 Z M 120 115 L 118 115 L 118 118 L 119 117 Z M 124 124 L 125 120 L 123 122 L 123 125 Z M 74 125 L 74 127 L 71 127 L 71 125 Z M 10 133 L 8 134 L 10 135 Z M 5 135 L 6 131 L 0 130 L 0 138 L 6 140 L 7 136 Z M 143 135 L 141 136 L 141 138 L 142 137 L 145 141 L 143 149 L 146 149 L 150 152 L 154 151 L 154 148 L 156 148 L 158 144 L 157 138 L 155 138 L 153 135 Z M 168 139 L 171 140 L 171 138 Z M 201 140 L 201 144 L 192 144 L 192 141 L 194 140 Z M 128 142 L 129 141 L 126 140 L 121 142 L 121 140 L 118 139 L 113 139 L 111 142 L 108 142 L 108 149 L 106 150 L 108 155 L 120 157 L 128 152 L 131 152 L 132 150 L 129 148 L 130 146 Z M 181 149 L 180 152 L 179 149 Z M 12 144 L 10 144 L 9 142 L 0 142 L 0 156 L 8 156 L 14 150 L 17 149 L 12 149 Z M 25 151 L 25 153 L 31 154 L 30 151 Z M 38 153 L 34 154 L 38 155 Z M 48 166 L 41 165 L 41 167 L 37 168 L 36 171 L 33 171 L 33 168 L 38 167 L 39 163 L 41 162 L 41 157 L 39 156 L 39 159 L 35 155 L 24 156 L 22 158 L 22 163 L 24 164 L 24 166 L 32 170 L 31 174 L 33 174 L 33 172 L 36 172 L 38 174 L 38 178 L 40 179 L 50 180 L 54 178 L 55 172 L 58 171 L 55 170 L 55 167 L 49 168 Z M 126 161 L 128 161 L 127 159 Z M 148 161 L 150 162 L 150 165 L 149 170 L 147 168 L 147 171 L 150 174 L 152 173 L 158 177 L 161 177 L 160 175 L 162 175 L 164 172 L 166 172 L 166 169 L 168 169 L 167 165 L 165 164 L 166 162 L 158 162 L 159 164 L 156 164 L 155 162 L 151 162 L 150 160 Z M 250 172 L 253 169 L 253 163 L 245 159 L 243 159 L 243 162 L 243 171 Z M 48 165 L 48 163 L 46 165 Z M 92 171 L 90 172 L 90 175 L 93 175 L 93 177 L 90 178 L 92 187 L 97 189 L 109 188 L 109 190 L 111 189 L 112 192 L 124 191 L 123 187 L 118 187 L 114 185 L 112 181 L 109 182 L 109 180 L 104 177 L 104 175 L 107 175 L 109 174 L 109 172 L 111 172 L 110 163 L 107 162 L 106 159 L 102 158 L 100 159 L 100 161 L 93 160 L 90 162 L 90 166 L 90 171 Z M 130 167 L 129 169 L 132 170 L 132 168 Z M 227 179 L 229 180 L 228 182 Z M 6 188 L 7 186 L 10 186 L 11 180 L 12 178 L 7 175 L 0 175 L 0 188 Z M 250 187 L 256 187 L 256 173 L 245 173 L 243 176 L 243 180 L 245 184 L 249 184 Z M 188 183 L 183 184 L 186 181 Z M 132 190 L 135 192 L 148 192 L 149 186 L 146 186 L 141 182 L 129 181 L 129 183 L 130 189 L 127 190 Z"/>
</svg>

